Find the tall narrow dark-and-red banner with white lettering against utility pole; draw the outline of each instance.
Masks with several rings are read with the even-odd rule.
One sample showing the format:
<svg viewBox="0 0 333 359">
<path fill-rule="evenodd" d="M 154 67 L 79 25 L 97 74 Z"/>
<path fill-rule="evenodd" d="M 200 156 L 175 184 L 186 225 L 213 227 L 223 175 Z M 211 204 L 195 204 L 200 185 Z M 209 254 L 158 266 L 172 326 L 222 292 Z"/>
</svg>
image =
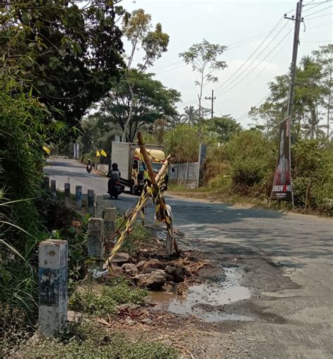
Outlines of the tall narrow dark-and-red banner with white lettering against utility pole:
<svg viewBox="0 0 333 359">
<path fill-rule="evenodd" d="M 289 117 L 280 122 L 279 152 L 276 163 L 271 200 L 284 200 L 294 204 L 292 174 L 290 167 L 290 122 Z"/>
</svg>

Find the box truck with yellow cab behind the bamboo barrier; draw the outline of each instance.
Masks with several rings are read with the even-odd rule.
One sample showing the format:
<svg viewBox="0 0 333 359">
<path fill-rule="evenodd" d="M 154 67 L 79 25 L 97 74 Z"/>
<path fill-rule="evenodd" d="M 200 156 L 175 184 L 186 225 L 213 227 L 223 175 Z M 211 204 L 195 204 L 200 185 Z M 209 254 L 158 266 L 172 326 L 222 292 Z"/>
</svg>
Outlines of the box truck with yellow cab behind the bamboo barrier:
<svg viewBox="0 0 333 359">
<path fill-rule="evenodd" d="M 145 148 L 150 155 L 152 169 L 157 174 L 165 159 L 163 146 L 145 145 Z M 132 195 L 139 195 L 145 184 L 144 171 L 146 168 L 138 144 L 112 142 L 111 162 L 118 164 L 122 187 L 129 187 Z"/>
</svg>

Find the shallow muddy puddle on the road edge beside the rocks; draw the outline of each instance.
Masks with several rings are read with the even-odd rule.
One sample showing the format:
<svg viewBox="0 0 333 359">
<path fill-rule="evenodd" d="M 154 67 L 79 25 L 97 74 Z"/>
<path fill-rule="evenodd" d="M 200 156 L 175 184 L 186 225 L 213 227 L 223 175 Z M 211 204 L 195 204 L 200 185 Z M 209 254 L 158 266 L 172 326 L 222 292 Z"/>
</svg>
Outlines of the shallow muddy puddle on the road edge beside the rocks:
<svg viewBox="0 0 333 359">
<path fill-rule="evenodd" d="M 196 315 L 207 322 L 252 320 L 246 315 L 225 313 L 224 306 L 249 299 L 251 293 L 247 287 L 240 285 L 243 274 L 240 268 L 224 268 L 224 270 L 225 280 L 192 285 L 186 297 L 177 296 L 172 292 L 153 292 L 150 297 L 171 313 Z"/>
</svg>

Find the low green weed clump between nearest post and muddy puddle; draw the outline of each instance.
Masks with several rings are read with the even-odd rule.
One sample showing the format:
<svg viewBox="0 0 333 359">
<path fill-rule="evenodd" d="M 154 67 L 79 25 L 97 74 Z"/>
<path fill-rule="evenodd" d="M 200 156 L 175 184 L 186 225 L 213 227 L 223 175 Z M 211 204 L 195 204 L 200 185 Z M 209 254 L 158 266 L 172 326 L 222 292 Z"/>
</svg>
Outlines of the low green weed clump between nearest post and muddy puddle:
<svg viewBox="0 0 333 359">
<path fill-rule="evenodd" d="M 92 289 L 89 287 L 84 291 L 74 292 L 68 302 L 70 310 L 103 317 L 115 314 L 118 304 L 142 304 L 148 296 L 147 290 L 133 287 L 129 281 L 122 278 L 104 285 L 100 294 L 96 294 Z"/>
</svg>

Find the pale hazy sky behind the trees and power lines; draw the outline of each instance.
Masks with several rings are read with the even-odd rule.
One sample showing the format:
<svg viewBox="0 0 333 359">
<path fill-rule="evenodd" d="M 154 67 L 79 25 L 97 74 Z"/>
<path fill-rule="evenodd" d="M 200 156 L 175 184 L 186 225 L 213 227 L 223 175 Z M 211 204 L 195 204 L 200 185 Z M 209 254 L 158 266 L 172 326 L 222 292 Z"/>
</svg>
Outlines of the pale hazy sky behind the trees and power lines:
<svg viewBox="0 0 333 359">
<path fill-rule="evenodd" d="M 296 1 L 123 0 L 122 6 L 127 11 L 143 8 L 152 15 L 152 24 L 160 22 L 163 32 L 169 34 L 168 51 L 149 72 L 164 86 L 181 92 L 180 113 L 185 106 L 197 107 L 198 87 L 195 72 L 178 53 L 202 39 L 228 46 L 220 57 L 228 67 L 215 73 L 218 83 L 204 86 L 204 96 L 211 96 L 214 90 L 214 115 L 230 114 L 243 126 L 251 123 L 247 116 L 250 107 L 268 95 L 268 82 L 289 69 L 294 22 L 283 15 L 294 14 Z M 332 0 L 303 1 L 298 60 L 332 43 L 332 9 Z M 136 63 L 141 56 L 138 53 Z M 211 103 L 203 100 L 203 105 L 210 107 Z"/>
</svg>

